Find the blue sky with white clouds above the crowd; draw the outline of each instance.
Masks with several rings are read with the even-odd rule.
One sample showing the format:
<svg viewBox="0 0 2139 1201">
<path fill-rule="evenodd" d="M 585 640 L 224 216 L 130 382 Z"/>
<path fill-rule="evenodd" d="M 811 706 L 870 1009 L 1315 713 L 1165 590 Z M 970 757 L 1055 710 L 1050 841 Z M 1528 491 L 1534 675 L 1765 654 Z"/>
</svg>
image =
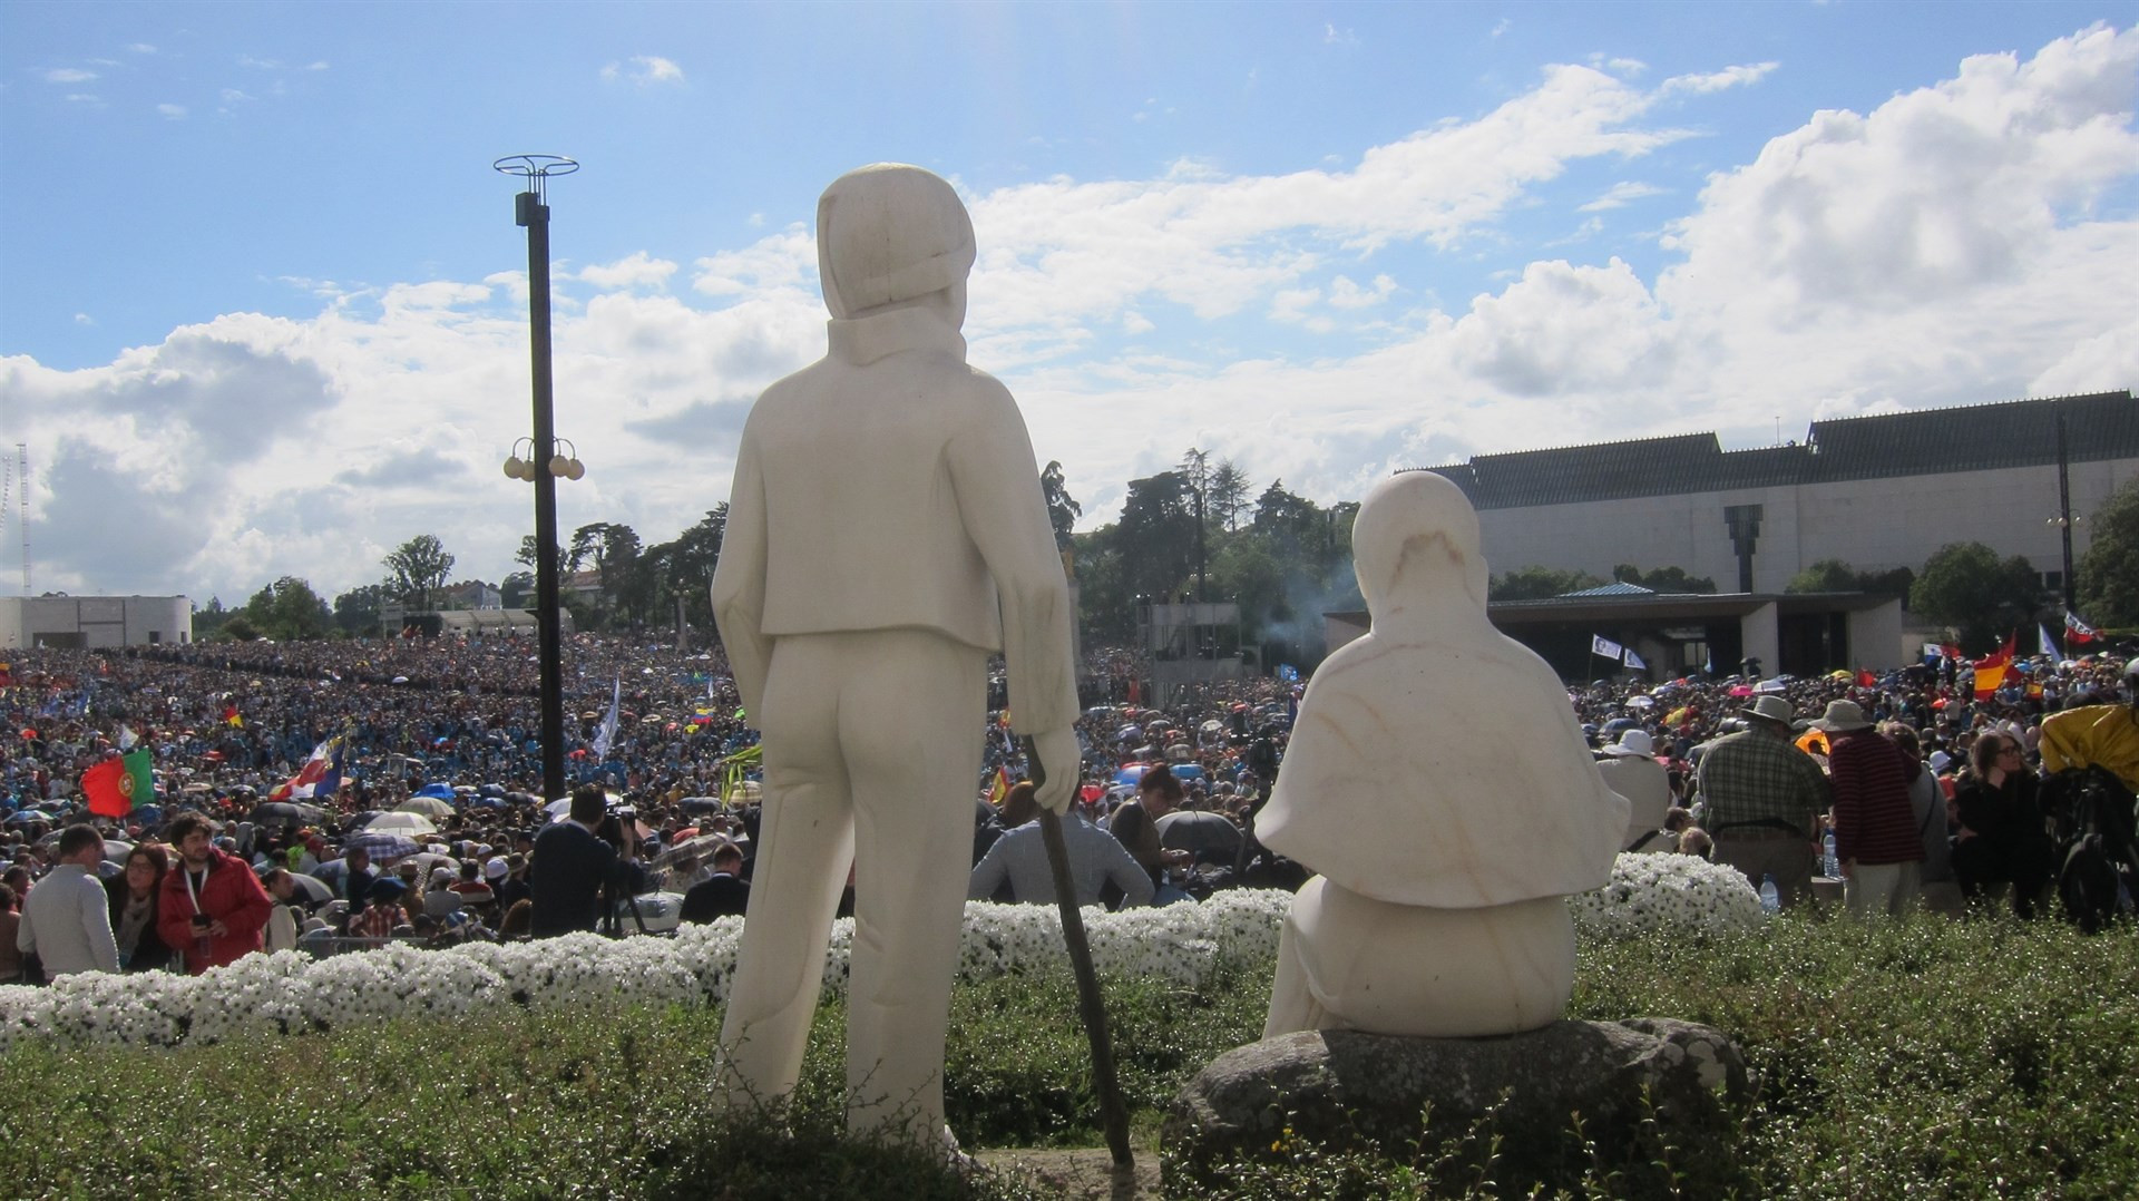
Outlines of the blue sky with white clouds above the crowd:
<svg viewBox="0 0 2139 1201">
<path fill-rule="evenodd" d="M 2130 387 L 2135 17 L 17 2 L 0 443 L 30 447 L 36 591 L 332 595 L 413 533 L 501 578 L 530 520 L 496 469 L 528 432 L 513 152 L 584 163 L 550 197 L 567 531 L 657 542 L 725 499 L 749 398 L 821 353 L 815 197 L 871 161 L 967 195 L 973 362 L 1087 525 L 1189 445 L 1335 501 L 1467 454 Z"/>
</svg>

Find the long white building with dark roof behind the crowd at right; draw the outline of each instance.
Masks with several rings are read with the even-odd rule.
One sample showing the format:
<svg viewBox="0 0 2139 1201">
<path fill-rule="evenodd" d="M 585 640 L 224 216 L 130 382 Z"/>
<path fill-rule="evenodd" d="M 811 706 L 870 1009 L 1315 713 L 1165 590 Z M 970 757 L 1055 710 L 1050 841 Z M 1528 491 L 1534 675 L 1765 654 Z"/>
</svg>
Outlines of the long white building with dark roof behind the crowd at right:
<svg viewBox="0 0 2139 1201">
<path fill-rule="evenodd" d="M 2139 480 L 2130 392 L 1814 422 L 1803 443 L 1722 450 L 1713 432 L 1482 454 L 1435 467 L 1478 510 L 1493 572 L 1683 567 L 1722 591 L 1782 593 L 1822 559 L 1923 569 L 1951 542 L 2026 554 L 2062 589 L 2058 420 L 2073 561 L 2088 516 Z"/>
</svg>

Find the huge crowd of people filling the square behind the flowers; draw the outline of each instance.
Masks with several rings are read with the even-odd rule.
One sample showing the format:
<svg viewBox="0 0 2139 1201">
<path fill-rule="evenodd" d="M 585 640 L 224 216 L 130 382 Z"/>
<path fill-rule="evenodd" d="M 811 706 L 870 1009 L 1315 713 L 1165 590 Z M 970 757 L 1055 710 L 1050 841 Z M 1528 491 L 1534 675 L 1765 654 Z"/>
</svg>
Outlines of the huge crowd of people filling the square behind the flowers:
<svg viewBox="0 0 2139 1201">
<path fill-rule="evenodd" d="M 1080 903 L 1194 903 L 1307 878 L 1253 833 L 1301 683 L 1219 681 L 1147 706 L 1136 653 L 1095 651 L 1082 668 L 1082 781 L 1063 822 Z M 1966 670 L 1919 664 L 1598 681 L 1568 700 L 1632 801 L 1621 850 L 1730 863 L 1780 906 L 1840 878 L 1865 914 L 1959 910 L 1991 891 L 2030 914 L 2056 871 L 2041 779 L 2100 764 L 2139 784 L 2139 664 L 2023 668 L 1981 698 Z M 575 790 L 550 801 L 524 638 L 15 653 L 0 691 L 0 980 L 629 931 L 646 918 L 614 901 L 648 891 L 680 897 L 652 929 L 742 914 L 755 732 L 719 649 L 571 636 L 565 679 Z M 973 843 L 943 854 L 978 899 L 1052 903 L 995 691 Z M 338 771 L 321 794 L 276 803 L 327 745 Z M 81 775 L 128 749 L 152 754 L 156 796 L 88 814 Z"/>
</svg>

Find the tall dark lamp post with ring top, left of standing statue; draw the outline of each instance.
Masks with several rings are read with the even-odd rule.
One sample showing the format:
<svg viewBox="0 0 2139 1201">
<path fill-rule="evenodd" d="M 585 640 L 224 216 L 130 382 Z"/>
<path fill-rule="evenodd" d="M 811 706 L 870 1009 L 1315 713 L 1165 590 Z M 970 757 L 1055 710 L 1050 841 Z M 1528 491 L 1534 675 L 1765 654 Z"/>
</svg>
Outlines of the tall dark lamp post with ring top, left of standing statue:
<svg viewBox="0 0 2139 1201">
<path fill-rule="evenodd" d="M 539 629 L 541 657 L 541 788 L 543 801 L 565 796 L 565 638 L 558 629 L 558 578 L 556 578 L 556 477 L 569 469 L 580 469 L 578 454 L 567 460 L 567 471 L 556 462 L 565 456 L 556 450 L 556 422 L 550 392 L 550 206 L 548 182 L 552 176 L 569 176 L 580 169 L 571 158 L 558 154 L 509 154 L 492 163 L 507 176 L 526 180 L 526 188 L 513 197 L 513 221 L 528 231 L 528 325 L 530 366 L 535 373 L 535 439 L 528 460 L 520 465 L 518 454 L 505 462 L 505 473 L 535 482 L 535 621 Z M 578 450 L 578 447 L 573 447 Z M 580 469 L 584 473 L 584 469 Z M 578 477 L 578 475 L 573 475 Z"/>
</svg>

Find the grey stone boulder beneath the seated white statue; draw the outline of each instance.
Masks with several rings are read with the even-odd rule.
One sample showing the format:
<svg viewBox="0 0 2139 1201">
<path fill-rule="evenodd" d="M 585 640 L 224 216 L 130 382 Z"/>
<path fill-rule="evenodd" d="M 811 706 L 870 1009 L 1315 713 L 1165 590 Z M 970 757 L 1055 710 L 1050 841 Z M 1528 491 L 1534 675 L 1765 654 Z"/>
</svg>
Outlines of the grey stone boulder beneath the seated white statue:
<svg viewBox="0 0 2139 1201">
<path fill-rule="evenodd" d="M 1298 1143 L 1412 1158 L 1476 1135 L 1499 1139 L 1504 1186 L 1658 1162 L 1692 1184 L 1728 1171 L 1748 1100 L 1739 1047 L 1668 1017 L 1555 1021 L 1506 1038 L 1307 1030 L 1204 1066 L 1174 1098 L 1164 1145 L 1168 1171 L 1194 1177 L 1200 1165 Z"/>
</svg>

